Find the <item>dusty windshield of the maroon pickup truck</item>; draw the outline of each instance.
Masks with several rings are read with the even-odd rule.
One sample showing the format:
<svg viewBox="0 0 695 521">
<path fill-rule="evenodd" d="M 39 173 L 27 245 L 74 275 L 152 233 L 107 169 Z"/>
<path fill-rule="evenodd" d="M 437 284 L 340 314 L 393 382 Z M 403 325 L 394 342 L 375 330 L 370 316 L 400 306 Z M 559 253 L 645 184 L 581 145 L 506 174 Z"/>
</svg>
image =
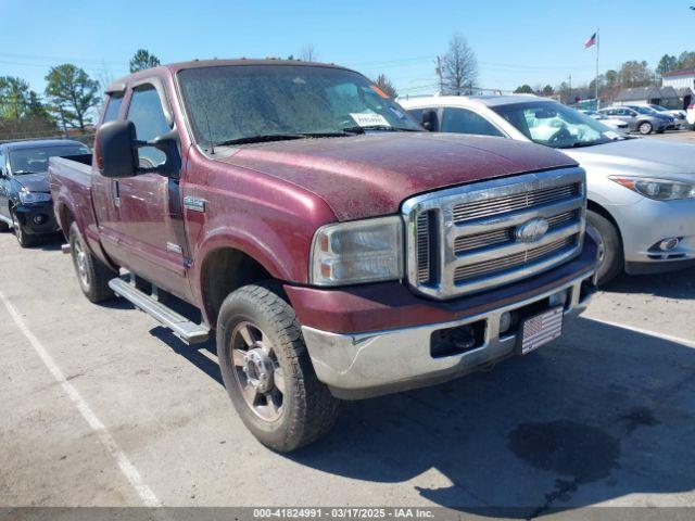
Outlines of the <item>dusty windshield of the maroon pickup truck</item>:
<svg viewBox="0 0 695 521">
<path fill-rule="evenodd" d="M 341 68 L 230 65 L 189 68 L 178 77 L 201 143 L 422 130 L 364 76 Z"/>
</svg>

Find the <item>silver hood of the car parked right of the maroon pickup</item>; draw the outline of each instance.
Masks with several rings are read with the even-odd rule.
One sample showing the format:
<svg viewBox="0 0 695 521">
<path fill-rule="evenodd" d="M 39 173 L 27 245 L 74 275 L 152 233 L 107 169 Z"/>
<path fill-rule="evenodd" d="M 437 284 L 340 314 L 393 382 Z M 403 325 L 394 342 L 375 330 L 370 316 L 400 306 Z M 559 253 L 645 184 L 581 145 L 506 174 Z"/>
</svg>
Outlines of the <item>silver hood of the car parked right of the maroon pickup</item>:
<svg viewBox="0 0 695 521">
<path fill-rule="evenodd" d="M 695 180 L 695 145 L 672 143 L 655 138 L 631 138 L 564 152 L 573 157 L 591 176 L 608 175 L 666 177 Z"/>
</svg>

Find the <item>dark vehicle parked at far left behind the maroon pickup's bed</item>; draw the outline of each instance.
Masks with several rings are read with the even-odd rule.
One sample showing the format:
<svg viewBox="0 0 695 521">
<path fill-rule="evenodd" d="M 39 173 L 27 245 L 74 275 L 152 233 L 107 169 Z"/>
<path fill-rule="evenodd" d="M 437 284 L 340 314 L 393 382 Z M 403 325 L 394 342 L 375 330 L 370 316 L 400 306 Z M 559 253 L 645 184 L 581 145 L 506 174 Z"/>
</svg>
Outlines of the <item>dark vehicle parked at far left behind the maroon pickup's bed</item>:
<svg viewBox="0 0 695 521">
<path fill-rule="evenodd" d="M 89 153 L 85 144 L 66 139 L 0 144 L 0 230 L 12 227 L 23 247 L 58 231 L 48 185 L 48 158 Z"/>
</svg>

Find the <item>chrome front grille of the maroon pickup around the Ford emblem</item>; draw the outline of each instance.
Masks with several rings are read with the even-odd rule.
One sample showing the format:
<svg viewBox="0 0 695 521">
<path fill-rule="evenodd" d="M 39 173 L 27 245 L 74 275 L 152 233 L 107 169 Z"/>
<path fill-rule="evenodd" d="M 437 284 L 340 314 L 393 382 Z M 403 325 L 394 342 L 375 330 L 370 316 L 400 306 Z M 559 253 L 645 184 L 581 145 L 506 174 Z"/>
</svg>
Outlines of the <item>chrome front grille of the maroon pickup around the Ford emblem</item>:
<svg viewBox="0 0 695 521">
<path fill-rule="evenodd" d="M 510 283 L 572 258 L 583 243 L 584 187 L 584 170 L 564 168 L 406 201 L 410 285 L 435 298 L 451 298 Z M 545 233 L 531 238 L 521 233 L 530 221 L 539 220 L 547 225 Z"/>
</svg>

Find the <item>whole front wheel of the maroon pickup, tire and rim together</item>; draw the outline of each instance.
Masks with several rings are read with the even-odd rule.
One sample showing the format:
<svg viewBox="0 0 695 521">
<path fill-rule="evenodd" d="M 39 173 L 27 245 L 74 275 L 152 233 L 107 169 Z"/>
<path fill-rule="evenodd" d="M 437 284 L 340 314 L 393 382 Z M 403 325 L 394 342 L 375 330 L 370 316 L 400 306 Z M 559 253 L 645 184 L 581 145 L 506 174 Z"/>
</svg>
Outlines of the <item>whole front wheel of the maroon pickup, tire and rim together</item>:
<svg viewBox="0 0 695 521">
<path fill-rule="evenodd" d="M 339 402 L 316 378 L 294 310 L 280 294 L 279 284 L 263 282 L 228 295 L 217 319 L 217 356 L 247 428 L 264 445 L 287 453 L 328 433 Z M 271 378 L 251 378 L 254 367 L 244 355 L 262 357 L 255 367 Z M 271 389 L 258 387 L 254 380 L 270 381 Z"/>
</svg>

